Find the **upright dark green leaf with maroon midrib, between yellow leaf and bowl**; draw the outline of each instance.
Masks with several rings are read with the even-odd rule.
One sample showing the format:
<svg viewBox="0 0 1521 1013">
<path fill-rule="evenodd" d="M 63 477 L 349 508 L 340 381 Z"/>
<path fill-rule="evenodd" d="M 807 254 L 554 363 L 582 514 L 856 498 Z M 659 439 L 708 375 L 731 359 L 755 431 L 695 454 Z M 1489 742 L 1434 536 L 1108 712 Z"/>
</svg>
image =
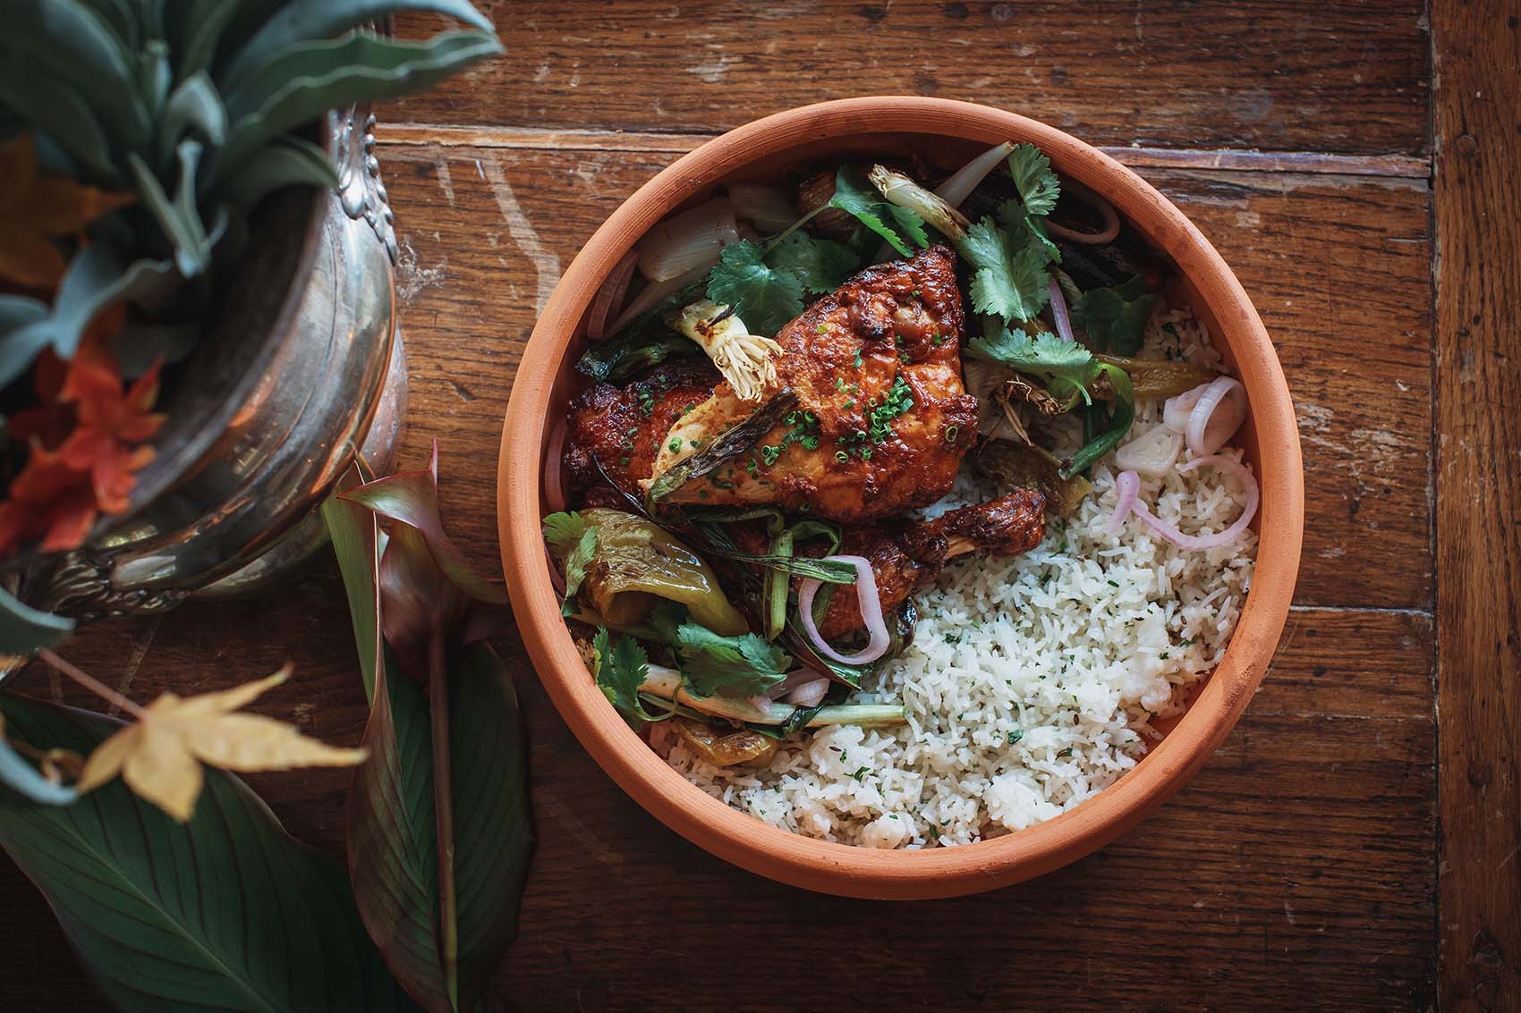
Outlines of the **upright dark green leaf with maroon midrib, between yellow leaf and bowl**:
<svg viewBox="0 0 1521 1013">
<path fill-rule="evenodd" d="M 324 517 L 353 608 L 360 669 L 374 680 L 364 736 L 373 759 L 357 771 L 348 805 L 354 896 L 386 963 L 418 1002 L 473 1008 L 516 934 L 534 843 L 513 684 L 484 643 L 464 651 L 446 692 L 426 695 L 395 678 L 395 657 L 379 636 L 374 514 L 335 497 Z M 446 698 L 440 722 L 430 707 Z M 437 738 L 441 726 L 452 729 L 447 742 Z M 441 865 L 441 853 L 452 862 Z"/>
</svg>

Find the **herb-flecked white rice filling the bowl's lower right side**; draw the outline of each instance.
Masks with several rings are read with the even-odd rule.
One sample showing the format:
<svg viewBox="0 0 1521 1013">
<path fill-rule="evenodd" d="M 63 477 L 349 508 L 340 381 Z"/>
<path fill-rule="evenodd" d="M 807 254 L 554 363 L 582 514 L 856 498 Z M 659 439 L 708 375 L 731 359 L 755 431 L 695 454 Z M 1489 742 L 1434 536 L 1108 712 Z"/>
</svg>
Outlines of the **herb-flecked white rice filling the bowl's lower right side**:
<svg viewBox="0 0 1521 1013">
<path fill-rule="evenodd" d="M 1173 324 L 1174 333 L 1162 329 Z M 1217 365 L 1191 315 L 1159 313 L 1141 354 Z M 1133 433 L 1161 418 L 1136 406 Z M 1240 456 L 1238 450 L 1223 453 Z M 919 593 L 914 642 L 862 686 L 902 703 L 897 729 L 838 726 L 785 744 L 765 770 L 710 767 L 665 726 L 651 745 L 687 780 L 795 834 L 867 847 L 967 844 L 1022 830 L 1113 783 L 1224 654 L 1252 581 L 1256 535 L 1177 549 L 1136 520 L 1103 532 L 1112 459 L 1094 494 L 1033 552 L 964 557 Z M 984 490 L 963 478 L 941 510 Z M 1142 479 L 1141 499 L 1186 532 L 1226 528 L 1235 484 L 1209 468 Z"/>
</svg>

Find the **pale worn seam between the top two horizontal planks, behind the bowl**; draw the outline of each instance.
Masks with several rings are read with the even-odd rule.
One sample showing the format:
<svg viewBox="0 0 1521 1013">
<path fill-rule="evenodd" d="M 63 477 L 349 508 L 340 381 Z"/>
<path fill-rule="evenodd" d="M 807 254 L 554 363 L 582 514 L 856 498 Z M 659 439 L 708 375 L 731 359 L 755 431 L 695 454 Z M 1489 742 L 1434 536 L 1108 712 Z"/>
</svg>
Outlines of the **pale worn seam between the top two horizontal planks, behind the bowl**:
<svg viewBox="0 0 1521 1013">
<path fill-rule="evenodd" d="M 640 131 L 540 129 L 517 126 L 382 125 L 386 144 L 443 148 L 516 148 L 529 151 L 630 151 L 686 154 L 716 134 Z M 1299 172 L 1349 176 L 1427 179 L 1431 160 L 1419 155 L 1334 155 L 1287 151 L 1200 151 L 1189 148 L 1100 148 L 1106 155 L 1141 169 L 1230 169 L 1237 172 Z"/>
</svg>

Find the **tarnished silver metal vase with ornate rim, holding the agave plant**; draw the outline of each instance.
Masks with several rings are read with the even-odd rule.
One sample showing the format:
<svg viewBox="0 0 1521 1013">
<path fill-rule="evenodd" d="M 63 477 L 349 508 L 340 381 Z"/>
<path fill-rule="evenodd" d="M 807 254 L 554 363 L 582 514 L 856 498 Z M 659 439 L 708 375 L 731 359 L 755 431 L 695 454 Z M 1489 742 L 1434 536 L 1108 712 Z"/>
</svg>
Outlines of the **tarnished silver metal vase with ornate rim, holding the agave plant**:
<svg viewBox="0 0 1521 1013">
<path fill-rule="evenodd" d="M 260 208 L 218 319 L 164 385 L 129 513 L 79 549 L 8 561 L 0 580 L 27 604 L 91 621 L 268 587 L 325 541 L 315 508 L 356 452 L 389 467 L 406 362 L 374 117 L 325 129 L 339 192 Z"/>
</svg>

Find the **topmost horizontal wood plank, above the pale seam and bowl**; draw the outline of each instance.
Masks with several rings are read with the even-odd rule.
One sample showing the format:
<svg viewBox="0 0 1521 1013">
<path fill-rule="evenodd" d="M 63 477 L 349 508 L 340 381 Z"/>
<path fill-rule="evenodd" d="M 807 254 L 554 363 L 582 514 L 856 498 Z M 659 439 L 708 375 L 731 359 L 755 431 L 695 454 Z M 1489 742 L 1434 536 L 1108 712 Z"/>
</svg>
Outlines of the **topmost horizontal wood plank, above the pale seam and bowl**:
<svg viewBox="0 0 1521 1013">
<path fill-rule="evenodd" d="M 1101 144 L 1427 151 L 1418 0 L 478 6 L 506 55 L 389 119 L 710 132 L 827 97 L 929 94 Z"/>
</svg>

